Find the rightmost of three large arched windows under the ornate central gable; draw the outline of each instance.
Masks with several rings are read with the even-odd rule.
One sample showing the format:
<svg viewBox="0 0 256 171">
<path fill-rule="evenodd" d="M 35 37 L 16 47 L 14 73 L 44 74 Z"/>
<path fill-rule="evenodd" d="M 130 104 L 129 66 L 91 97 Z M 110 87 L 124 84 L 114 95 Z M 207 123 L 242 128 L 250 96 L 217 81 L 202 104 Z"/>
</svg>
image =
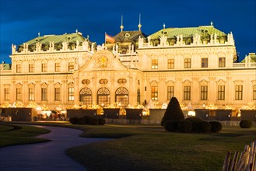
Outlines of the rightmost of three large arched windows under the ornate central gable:
<svg viewBox="0 0 256 171">
<path fill-rule="evenodd" d="M 117 105 L 121 107 L 125 107 L 128 105 L 129 102 L 129 92 L 124 87 L 120 87 L 115 92 L 115 101 L 117 102 Z"/>
</svg>

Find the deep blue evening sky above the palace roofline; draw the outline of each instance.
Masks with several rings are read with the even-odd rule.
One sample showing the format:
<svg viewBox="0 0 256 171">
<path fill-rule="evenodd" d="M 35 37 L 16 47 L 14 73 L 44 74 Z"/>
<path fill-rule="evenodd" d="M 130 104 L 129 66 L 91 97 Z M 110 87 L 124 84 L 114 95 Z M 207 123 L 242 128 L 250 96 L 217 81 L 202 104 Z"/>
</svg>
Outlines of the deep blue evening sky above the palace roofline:
<svg viewBox="0 0 256 171">
<path fill-rule="evenodd" d="M 1 0 L 0 60 L 10 63 L 12 44 L 48 34 L 75 33 L 103 44 L 104 33 L 138 30 L 147 35 L 166 27 L 213 25 L 233 33 L 240 60 L 256 52 L 255 0 Z"/>
</svg>

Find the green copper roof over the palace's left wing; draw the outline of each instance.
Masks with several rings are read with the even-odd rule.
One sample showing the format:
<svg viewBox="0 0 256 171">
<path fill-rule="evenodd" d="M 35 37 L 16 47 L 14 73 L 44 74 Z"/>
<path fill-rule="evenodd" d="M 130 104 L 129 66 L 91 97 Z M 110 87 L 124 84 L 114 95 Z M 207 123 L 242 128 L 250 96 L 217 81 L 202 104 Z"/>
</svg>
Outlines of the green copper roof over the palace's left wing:
<svg viewBox="0 0 256 171">
<path fill-rule="evenodd" d="M 49 44 L 50 42 L 54 42 L 54 44 L 61 44 L 64 41 L 68 43 L 76 43 L 76 40 L 79 42 L 83 42 L 86 40 L 85 37 L 82 37 L 79 33 L 72 33 L 72 34 L 63 34 L 63 35 L 45 35 L 43 37 L 36 37 L 33 40 L 29 40 L 26 43 L 29 45 L 37 44 Z"/>
</svg>

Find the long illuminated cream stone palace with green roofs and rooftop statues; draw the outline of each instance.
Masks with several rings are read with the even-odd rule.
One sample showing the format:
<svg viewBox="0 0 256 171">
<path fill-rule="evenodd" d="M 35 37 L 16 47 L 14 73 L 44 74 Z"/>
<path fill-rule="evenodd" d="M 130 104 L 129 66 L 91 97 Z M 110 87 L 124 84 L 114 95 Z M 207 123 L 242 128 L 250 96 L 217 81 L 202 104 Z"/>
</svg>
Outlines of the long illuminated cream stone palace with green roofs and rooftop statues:
<svg viewBox="0 0 256 171">
<path fill-rule="evenodd" d="M 210 26 L 156 33 L 106 34 L 96 45 L 75 33 L 44 35 L 12 44 L 12 65 L 0 65 L 0 103 L 127 106 L 176 96 L 193 108 L 214 103 L 233 109 L 256 102 L 255 54 L 237 62 L 233 33 Z M 151 101 L 150 101 L 151 103 Z"/>
</svg>

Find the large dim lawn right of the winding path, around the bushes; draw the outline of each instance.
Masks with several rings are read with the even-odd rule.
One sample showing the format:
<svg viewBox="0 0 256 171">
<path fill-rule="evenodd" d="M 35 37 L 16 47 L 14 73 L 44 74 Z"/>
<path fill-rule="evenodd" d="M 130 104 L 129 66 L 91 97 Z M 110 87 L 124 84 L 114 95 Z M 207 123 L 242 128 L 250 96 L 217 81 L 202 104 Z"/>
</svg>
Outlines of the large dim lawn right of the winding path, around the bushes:
<svg viewBox="0 0 256 171">
<path fill-rule="evenodd" d="M 84 137 L 117 138 L 66 151 L 88 170 L 222 170 L 226 151 L 241 152 L 256 140 L 255 127 L 223 127 L 211 134 L 174 133 L 145 125 L 85 127 Z"/>
</svg>

